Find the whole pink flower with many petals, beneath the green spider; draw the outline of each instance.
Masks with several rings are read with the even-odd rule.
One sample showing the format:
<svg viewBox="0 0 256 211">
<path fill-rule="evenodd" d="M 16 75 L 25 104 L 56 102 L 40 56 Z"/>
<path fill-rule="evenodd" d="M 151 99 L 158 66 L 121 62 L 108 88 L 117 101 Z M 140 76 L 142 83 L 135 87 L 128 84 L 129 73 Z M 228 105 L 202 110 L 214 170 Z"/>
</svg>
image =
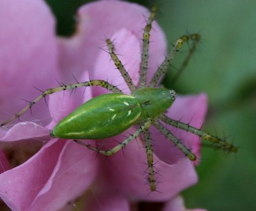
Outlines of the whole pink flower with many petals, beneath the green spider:
<svg viewBox="0 0 256 211">
<path fill-rule="evenodd" d="M 1 115 L 0 120 L 19 112 L 26 103 L 20 98 L 34 99 L 39 89 L 55 87 L 55 78 L 71 84 L 72 75 L 79 82 L 91 79 L 108 80 L 125 89 L 120 73 L 115 69 L 109 54 L 100 50 L 106 45 L 104 38 L 115 40 L 116 52 L 129 71 L 134 84 L 138 84 L 140 69 L 141 36 L 148 10 L 137 4 L 122 1 L 99 1 L 79 9 L 79 25 L 72 38 L 58 38 L 54 34 L 55 24 L 49 7 L 39 0 L 1 1 L 0 6 L 0 71 L 1 71 Z M 148 77 L 151 78 L 157 65 L 166 53 L 166 40 L 159 25 L 154 22 L 150 43 Z M 70 201 L 86 192 L 89 210 L 129 210 L 131 203 L 138 201 L 166 201 L 164 210 L 177 210 L 180 191 L 197 182 L 195 168 L 179 150 L 173 147 L 155 130 L 154 166 L 157 190 L 150 193 L 145 182 L 147 170 L 145 148 L 140 138 L 129 143 L 123 152 L 112 157 L 98 156 L 95 152 L 73 142 L 51 138 L 49 131 L 65 115 L 84 101 L 102 94 L 102 89 L 65 91 L 52 94 L 48 107 L 44 102 L 33 106 L 33 119 L 26 113 L 22 122 L 6 130 L 0 129 L 1 142 L 11 142 L 26 148 L 28 145 L 44 145 L 25 163 L 11 168 L 1 152 L 0 197 L 12 210 L 60 210 L 69 208 Z M 129 92 L 125 89 L 124 92 Z M 179 97 L 168 110 L 173 119 L 189 122 L 200 127 L 207 109 L 204 94 Z M 23 122 L 29 120 L 27 122 Z M 127 132 L 133 133 L 134 128 Z M 193 152 L 199 155 L 199 138 L 195 135 L 172 129 L 178 138 L 184 140 Z M 124 135 L 127 133 L 124 133 Z M 119 135 L 108 140 L 96 141 L 100 146 L 116 145 L 124 140 Z M 19 141 L 19 142 L 17 142 Z M 91 141 L 94 143 L 93 141 Z M 4 150 L 6 152 L 6 150 Z M 163 176 L 161 176 L 161 175 Z M 175 198 L 175 199 L 173 199 Z M 178 198 L 179 199 L 179 198 Z M 97 200 L 100 203 L 97 204 Z M 93 203 L 95 201 L 95 203 Z M 179 200 L 178 200 L 179 201 Z M 100 205 L 101 208 L 97 207 Z M 180 210 L 182 203 L 178 203 Z M 171 207 L 171 208 L 170 208 Z M 119 208 L 119 209 L 118 209 Z"/>
</svg>

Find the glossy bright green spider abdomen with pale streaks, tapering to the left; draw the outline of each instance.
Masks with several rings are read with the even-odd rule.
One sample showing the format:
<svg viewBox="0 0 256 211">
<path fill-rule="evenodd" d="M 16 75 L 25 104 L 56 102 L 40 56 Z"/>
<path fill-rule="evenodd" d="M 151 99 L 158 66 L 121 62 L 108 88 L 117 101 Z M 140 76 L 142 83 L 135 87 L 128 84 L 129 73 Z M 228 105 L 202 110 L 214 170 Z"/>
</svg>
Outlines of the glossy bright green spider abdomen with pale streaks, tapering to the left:
<svg viewBox="0 0 256 211">
<path fill-rule="evenodd" d="M 61 120 L 52 137 L 101 139 L 118 135 L 140 117 L 141 106 L 134 96 L 102 94 L 90 99 Z"/>
</svg>

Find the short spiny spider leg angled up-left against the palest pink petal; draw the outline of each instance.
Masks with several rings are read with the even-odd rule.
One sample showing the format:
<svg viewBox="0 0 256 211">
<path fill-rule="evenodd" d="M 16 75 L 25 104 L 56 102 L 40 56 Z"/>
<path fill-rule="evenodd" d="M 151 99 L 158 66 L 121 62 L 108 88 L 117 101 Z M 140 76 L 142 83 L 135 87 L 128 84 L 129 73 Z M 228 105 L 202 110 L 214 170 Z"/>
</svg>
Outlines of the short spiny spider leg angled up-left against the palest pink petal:
<svg viewBox="0 0 256 211">
<path fill-rule="evenodd" d="M 131 92 L 134 92 L 136 90 L 136 87 L 133 84 L 132 79 L 129 76 L 129 73 L 124 68 L 124 65 L 122 64 L 122 62 L 118 59 L 117 55 L 115 54 L 113 43 L 111 42 L 110 39 L 107 39 L 106 43 L 108 45 L 109 54 L 111 56 L 111 59 L 115 63 L 116 68 L 120 71 L 121 75 L 123 76 L 126 84 L 128 85 L 129 89 L 131 90 Z"/>
</svg>

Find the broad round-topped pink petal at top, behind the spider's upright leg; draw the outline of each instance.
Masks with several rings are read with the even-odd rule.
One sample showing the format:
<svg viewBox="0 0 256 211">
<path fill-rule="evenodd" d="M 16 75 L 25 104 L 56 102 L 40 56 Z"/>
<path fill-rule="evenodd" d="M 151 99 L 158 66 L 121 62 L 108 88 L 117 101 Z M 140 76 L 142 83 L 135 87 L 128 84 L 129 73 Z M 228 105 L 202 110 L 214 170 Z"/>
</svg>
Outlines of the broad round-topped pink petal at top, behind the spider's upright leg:
<svg viewBox="0 0 256 211">
<path fill-rule="evenodd" d="M 146 25 L 145 17 L 148 17 L 149 11 L 138 4 L 112 0 L 86 4 L 79 9 L 78 15 L 77 33 L 71 39 L 60 40 L 61 69 L 66 73 L 65 78 L 71 78 L 71 69 L 77 77 L 84 70 L 91 71 L 97 55 L 102 51 L 100 48 L 106 47 L 106 38 L 110 38 L 120 29 L 132 31 L 138 39 L 141 39 L 142 29 Z M 150 55 L 152 55 L 149 61 L 150 77 L 152 71 L 163 61 L 166 51 L 163 31 L 156 22 L 153 28 L 151 34 L 153 42 L 150 43 Z M 133 47 L 131 51 L 132 54 L 140 56 L 140 52 L 134 52 Z"/>
</svg>

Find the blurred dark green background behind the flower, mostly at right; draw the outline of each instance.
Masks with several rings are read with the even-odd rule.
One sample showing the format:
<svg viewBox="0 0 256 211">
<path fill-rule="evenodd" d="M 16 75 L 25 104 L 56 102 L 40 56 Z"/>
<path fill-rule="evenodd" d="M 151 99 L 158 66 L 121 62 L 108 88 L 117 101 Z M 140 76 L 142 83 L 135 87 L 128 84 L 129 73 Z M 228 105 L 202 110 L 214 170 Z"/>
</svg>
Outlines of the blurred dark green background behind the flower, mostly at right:
<svg viewBox="0 0 256 211">
<path fill-rule="evenodd" d="M 74 31 L 77 8 L 83 0 L 47 0 L 58 19 L 58 34 Z M 152 1 L 132 1 L 148 8 Z M 227 154 L 204 148 L 198 166 L 200 182 L 184 192 L 186 206 L 211 211 L 256 210 L 256 1 L 156 1 L 157 20 L 169 41 L 202 34 L 202 42 L 175 84 L 182 94 L 206 92 L 209 112 L 205 131 L 230 136 L 239 152 Z M 115 12 L 115 11 L 109 11 Z M 188 48 L 187 48 L 188 50 Z M 179 68 L 186 47 L 173 64 Z"/>
</svg>

